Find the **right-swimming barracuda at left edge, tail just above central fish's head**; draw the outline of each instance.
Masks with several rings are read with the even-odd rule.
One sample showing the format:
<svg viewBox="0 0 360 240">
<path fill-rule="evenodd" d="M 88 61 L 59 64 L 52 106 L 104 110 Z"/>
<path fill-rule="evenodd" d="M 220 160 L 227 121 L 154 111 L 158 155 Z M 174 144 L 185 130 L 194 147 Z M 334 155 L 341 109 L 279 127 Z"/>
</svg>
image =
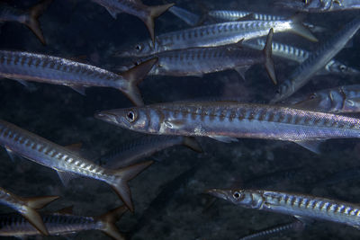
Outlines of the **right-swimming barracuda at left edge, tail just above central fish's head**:
<svg viewBox="0 0 360 240">
<path fill-rule="evenodd" d="M 66 58 L 0 50 L 0 77 L 17 81 L 67 85 L 83 94 L 85 86 L 113 87 L 127 95 L 131 102 L 142 105 L 137 84 L 147 76 L 156 62 L 156 58 L 151 58 L 118 75 L 100 67 Z"/>
</svg>

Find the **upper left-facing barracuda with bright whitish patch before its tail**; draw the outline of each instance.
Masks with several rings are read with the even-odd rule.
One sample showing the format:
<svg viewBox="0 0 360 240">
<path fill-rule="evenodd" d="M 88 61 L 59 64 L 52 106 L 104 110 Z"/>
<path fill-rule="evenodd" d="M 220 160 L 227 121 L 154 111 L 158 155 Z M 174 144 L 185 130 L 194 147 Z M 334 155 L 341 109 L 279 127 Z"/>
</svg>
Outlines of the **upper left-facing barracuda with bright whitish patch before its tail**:
<svg viewBox="0 0 360 240">
<path fill-rule="evenodd" d="M 144 57 L 167 50 L 217 47 L 236 43 L 242 39 L 265 36 L 271 28 L 275 33 L 292 31 L 308 40 L 317 41 L 311 31 L 302 26 L 298 18 L 281 21 L 220 22 L 160 34 L 155 40 L 155 47 L 151 41 L 142 41 L 130 47 L 130 50 L 122 51 L 118 56 Z"/>
</svg>

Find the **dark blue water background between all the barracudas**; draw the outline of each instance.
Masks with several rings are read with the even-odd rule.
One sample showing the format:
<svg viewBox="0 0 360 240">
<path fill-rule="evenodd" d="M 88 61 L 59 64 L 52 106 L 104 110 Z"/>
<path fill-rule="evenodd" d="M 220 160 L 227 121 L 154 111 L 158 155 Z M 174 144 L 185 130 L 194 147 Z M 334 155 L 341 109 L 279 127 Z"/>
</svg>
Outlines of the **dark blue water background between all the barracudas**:
<svg viewBox="0 0 360 240">
<path fill-rule="evenodd" d="M 26 7 L 36 1 L 10 1 Z M 15 2 L 15 3 L 14 3 Z M 161 1 L 144 1 L 162 4 Z M 209 9 L 242 9 L 266 13 L 287 13 L 275 9 L 273 1 L 175 1 L 194 13 Z M 318 33 L 320 42 L 327 40 L 359 12 L 312 14 L 306 20 L 327 27 Z M 292 14 L 292 13 L 288 13 Z M 148 38 L 143 22 L 128 14 L 117 20 L 100 5 L 91 1 L 54 0 L 40 18 L 48 42 L 42 46 L 31 31 L 17 23 L 6 23 L 1 29 L 0 48 L 27 50 L 73 58 L 86 56 L 90 63 L 112 69 L 121 62 L 113 58 L 115 51 L 130 43 Z M 186 28 L 185 23 L 171 13 L 156 22 L 156 32 Z M 291 34 L 279 34 L 275 40 L 293 43 L 306 49 L 317 44 Z M 360 36 L 353 47 L 343 49 L 337 59 L 358 67 Z M 275 58 L 279 81 L 293 70 L 287 61 Z M 356 77 L 316 76 L 302 88 L 300 94 L 311 93 L 341 84 L 356 84 Z M 199 77 L 148 77 L 139 85 L 144 101 L 171 102 L 203 97 L 238 97 L 244 102 L 267 102 L 276 87 L 262 66 L 250 68 L 243 81 L 235 71 L 225 71 Z M 96 159 L 113 147 L 142 135 L 116 128 L 93 118 L 94 112 L 130 106 L 119 91 L 110 88 L 89 88 L 86 96 L 70 88 L 50 84 L 34 84 L 26 89 L 12 80 L 0 81 L 0 118 L 28 129 L 60 145 L 83 143 L 84 155 Z M 292 143 L 240 140 L 224 144 L 211 139 L 199 139 L 205 153 L 199 155 L 184 147 L 174 147 L 157 154 L 162 162 L 153 164 L 130 182 L 135 213 L 127 213 L 118 222 L 129 239 L 233 239 L 258 229 L 291 221 L 293 218 L 274 213 L 233 206 L 202 194 L 209 188 L 252 187 L 275 191 L 314 194 L 350 202 L 360 199 L 359 176 L 350 180 L 340 174 L 330 185 L 321 181 L 333 173 L 360 167 L 360 145 L 357 140 L 330 140 L 322 145 L 323 154 L 314 155 Z M 121 200 L 103 182 L 89 179 L 73 180 L 66 188 L 55 171 L 16 159 L 13 163 L 4 150 L 0 151 L 0 181 L 5 189 L 22 196 L 58 194 L 62 198 L 48 209 L 74 205 L 79 215 L 100 215 L 121 205 Z M 263 176 L 263 177 L 262 177 Z M 343 181 L 347 180 L 347 181 Z M 9 209 L 3 208 L 3 211 Z M 50 237 L 49 237 L 50 238 Z M 108 239 L 92 231 L 70 236 L 74 239 Z M 353 227 L 317 222 L 304 231 L 275 236 L 272 239 L 359 239 Z"/>
</svg>

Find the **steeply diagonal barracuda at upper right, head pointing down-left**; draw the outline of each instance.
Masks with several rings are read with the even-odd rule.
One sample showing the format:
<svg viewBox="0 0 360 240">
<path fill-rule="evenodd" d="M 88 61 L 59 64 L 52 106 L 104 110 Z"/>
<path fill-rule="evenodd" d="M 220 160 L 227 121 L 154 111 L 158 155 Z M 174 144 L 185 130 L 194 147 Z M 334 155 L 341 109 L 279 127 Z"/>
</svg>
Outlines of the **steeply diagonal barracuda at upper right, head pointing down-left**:
<svg viewBox="0 0 360 240">
<path fill-rule="evenodd" d="M 347 45 L 347 41 L 350 40 L 359 29 L 360 17 L 356 17 L 356 19 L 347 23 L 347 25 L 341 31 L 338 31 L 329 41 L 311 53 L 311 56 L 302 62 L 289 78 L 279 86 L 279 90 L 271 102 L 274 103 L 284 100 L 299 90 L 304 84 L 308 83 L 312 76 L 325 67 L 329 61 Z"/>
</svg>

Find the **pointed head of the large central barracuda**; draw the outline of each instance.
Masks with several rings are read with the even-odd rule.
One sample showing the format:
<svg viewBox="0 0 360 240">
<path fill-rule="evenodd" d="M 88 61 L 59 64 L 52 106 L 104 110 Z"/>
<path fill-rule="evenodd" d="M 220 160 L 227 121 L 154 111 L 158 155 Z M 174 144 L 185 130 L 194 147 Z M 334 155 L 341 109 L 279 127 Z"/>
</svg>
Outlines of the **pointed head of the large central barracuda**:
<svg viewBox="0 0 360 240">
<path fill-rule="evenodd" d="M 141 108 L 134 107 L 99 111 L 94 114 L 94 117 L 124 129 L 148 132 L 149 120 L 147 114 Z"/>
</svg>

